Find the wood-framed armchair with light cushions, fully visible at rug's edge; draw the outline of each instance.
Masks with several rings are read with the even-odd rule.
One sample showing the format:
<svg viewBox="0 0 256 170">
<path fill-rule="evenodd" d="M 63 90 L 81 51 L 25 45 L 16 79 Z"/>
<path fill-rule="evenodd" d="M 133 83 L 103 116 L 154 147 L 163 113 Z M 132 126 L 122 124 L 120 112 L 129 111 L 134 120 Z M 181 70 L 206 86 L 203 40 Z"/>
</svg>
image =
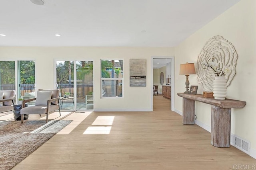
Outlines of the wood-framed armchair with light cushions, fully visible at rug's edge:
<svg viewBox="0 0 256 170">
<path fill-rule="evenodd" d="M 43 90 L 39 89 L 37 91 L 36 98 L 27 99 L 22 101 L 22 109 L 20 110 L 21 114 L 21 123 L 23 123 L 24 114 L 46 114 L 46 123 L 48 123 L 49 112 L 59 109 L 60 112 L 60 103 L 59 103 L 59 89 L 54 90 Z M 27 102 L 36 100 L 35 106 L 25 107 Z"/>
</svg>

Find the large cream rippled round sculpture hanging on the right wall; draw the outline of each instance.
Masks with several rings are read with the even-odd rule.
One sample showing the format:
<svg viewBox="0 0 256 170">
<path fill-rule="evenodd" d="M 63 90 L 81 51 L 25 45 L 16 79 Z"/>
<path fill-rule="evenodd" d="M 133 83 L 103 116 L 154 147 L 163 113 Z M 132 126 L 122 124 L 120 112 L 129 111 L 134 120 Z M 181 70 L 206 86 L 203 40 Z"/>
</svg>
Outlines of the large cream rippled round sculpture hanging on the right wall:
<svg viewBox="0 0 256 170">
<path fill-rule="evenodd" d="M 198 82 L 204 91 L 213 91 L 213 80 L 216 72 L 206 65 L 214 66 L 224 72 L 227 86 L 236 74 L 236 60 L 238 55 L 234 46 L 220 35 L 209 39 L 198 56 L 196 74 Z"/>
</svg>

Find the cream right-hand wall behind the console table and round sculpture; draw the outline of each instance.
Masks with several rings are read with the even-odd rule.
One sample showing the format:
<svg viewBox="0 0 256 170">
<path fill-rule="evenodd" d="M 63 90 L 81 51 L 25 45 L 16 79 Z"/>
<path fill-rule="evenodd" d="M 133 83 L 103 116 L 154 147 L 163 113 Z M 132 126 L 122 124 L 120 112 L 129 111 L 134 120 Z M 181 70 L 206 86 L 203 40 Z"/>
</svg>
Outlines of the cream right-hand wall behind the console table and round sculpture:
<svg viewBox="0 0 256 170">
<path fill-rule="evenodd" d="M 196 63 L 198 54 L 208 39 L 221 35 L 232 43 L 238 53 L 236 75 L 227 88 L 227 98 L 246 101 L 242 109 L 232 109 L 231 133 L 250 141 L 256 154 L 256 100 L 254 85 L 256 78 L 256 1 L 241 0 L 232 8 L 196 31 L 175 48 L 175 94 L 184 92 L 185 76 L 179 75 L 180 64 Z M 202 87 L 196 75 L 189 76 L 190 85 Z M 182 111 L 182 98 L 175 96 L 175 108 Z M 211 106 L 196 102 L 197 120 L 211 125 Z M 254 155 L 255 156 L 255 155 Z"/>
</svg>

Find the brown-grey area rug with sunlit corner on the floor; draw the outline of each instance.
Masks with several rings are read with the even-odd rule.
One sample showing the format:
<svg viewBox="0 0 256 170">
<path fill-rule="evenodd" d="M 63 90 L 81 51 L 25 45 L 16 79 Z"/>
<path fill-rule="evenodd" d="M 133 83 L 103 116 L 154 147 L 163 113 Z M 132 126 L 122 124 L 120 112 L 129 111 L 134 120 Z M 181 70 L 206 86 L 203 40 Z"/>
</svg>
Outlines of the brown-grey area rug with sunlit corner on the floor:
<svg viewBox="0 0 256 170">
<path fill-rule="evenodd" d="M 0 122 L 0 170 L 9 170 L 72 120 Z"/>
</svg>

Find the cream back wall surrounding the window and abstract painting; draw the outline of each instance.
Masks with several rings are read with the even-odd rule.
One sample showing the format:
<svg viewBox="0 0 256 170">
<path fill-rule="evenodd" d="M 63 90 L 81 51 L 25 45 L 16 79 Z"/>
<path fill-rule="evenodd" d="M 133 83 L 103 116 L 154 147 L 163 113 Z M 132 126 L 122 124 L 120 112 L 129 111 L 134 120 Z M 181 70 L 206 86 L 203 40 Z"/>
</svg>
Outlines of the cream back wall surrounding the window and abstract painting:
<svg viewBox="0 0 256 170">
<path fill-rule="evenodd" d="M 171 47 L 0 47 L 1 59 L 35 59 L 36 88 L 54 85 L 54 59 L 94 61 L 95 111 L 150 111 L 152 56 L 174 56 Z M 100 98 L 100 59 L 124 59 L 123 98 Z M 146 59 L 146 87 L 130 87 L 130 59 Z"/>
</svg>

